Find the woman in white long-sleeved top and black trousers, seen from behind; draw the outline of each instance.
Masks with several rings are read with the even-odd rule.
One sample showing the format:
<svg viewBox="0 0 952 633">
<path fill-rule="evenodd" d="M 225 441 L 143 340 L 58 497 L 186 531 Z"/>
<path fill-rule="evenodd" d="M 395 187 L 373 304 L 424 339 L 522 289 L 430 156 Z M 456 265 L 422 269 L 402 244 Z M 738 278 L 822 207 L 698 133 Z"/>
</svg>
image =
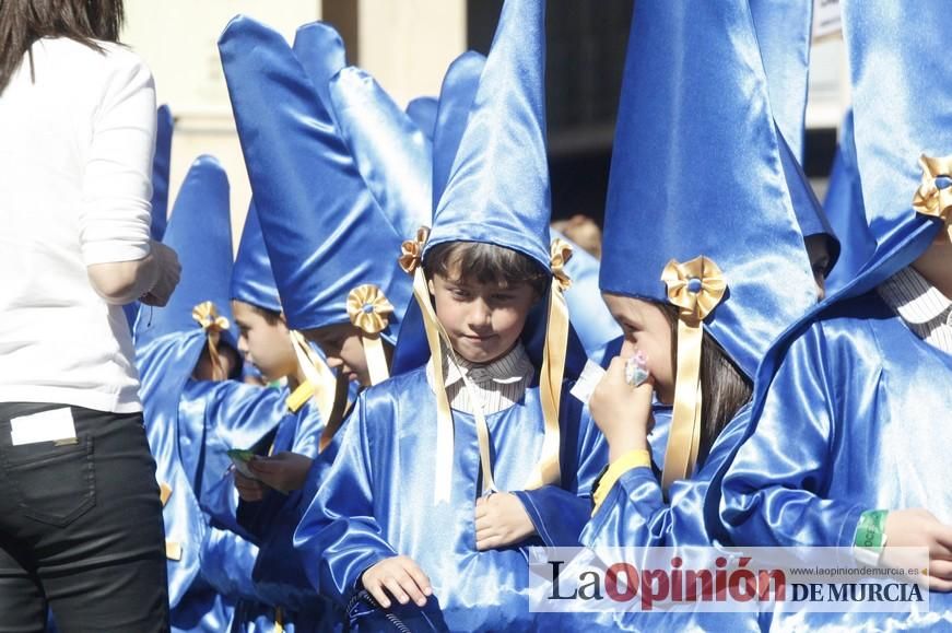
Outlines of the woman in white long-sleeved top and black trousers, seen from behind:
<svg viewBox="0 0 952 633">
<path fill-rule="evenodd" d="M 0 2 L 0 631 L 165 631 L 155 465 L 122 304 L 164 305 L 155 90 L 121 0 Z"/>
</svg>

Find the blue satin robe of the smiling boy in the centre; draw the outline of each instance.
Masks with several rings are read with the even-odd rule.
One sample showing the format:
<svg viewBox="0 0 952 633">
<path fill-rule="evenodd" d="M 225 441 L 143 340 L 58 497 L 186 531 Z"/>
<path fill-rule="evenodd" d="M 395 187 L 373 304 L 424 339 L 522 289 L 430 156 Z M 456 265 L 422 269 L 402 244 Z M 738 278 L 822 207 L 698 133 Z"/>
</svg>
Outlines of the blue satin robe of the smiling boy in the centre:
<svg viewBox="0 0 952 633">
<path fill-rule="evenodd" d="M 563 394 L 561 487 L 521 491 L 542 444 L 538 386 L 517 405 L 486 417 L 496 485 L 518 491 L 540 537 L 479 552 L 473 417 L 454 411 L 453 499 L 434 505 L 436 406 L 425 367 L 364 391 L 345 424 L 340 454 L 295 535 L 321 593 L 346 605 L 367 567 L 403 554 L 433 583 L 423 610 L 395 602 L 392 612 L 412 630 L 533 630 L 539 614 L 529 612 L 526 547 L 578 544 L 592 481 L 607 461 L 603 437 L 587 411 L 567 387 Z M 380 611 L 363 602 L 349 614 L 361 630 L 389 626 Z M 548 621 L 550 629 L 557 622 Z"/>
</svg>

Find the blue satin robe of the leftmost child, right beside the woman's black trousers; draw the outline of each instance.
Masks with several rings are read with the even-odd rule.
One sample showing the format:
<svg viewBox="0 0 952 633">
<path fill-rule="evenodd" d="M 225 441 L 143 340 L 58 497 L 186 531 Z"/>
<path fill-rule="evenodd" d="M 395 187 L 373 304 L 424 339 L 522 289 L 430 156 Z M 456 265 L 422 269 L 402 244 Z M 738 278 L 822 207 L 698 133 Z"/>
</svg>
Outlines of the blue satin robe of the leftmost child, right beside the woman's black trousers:
<svg viewBox="0 0 952 633">
<path fill-rule="evenodd" d="M 273 389 L 192 380 L 192 368 L 205 344 L 204 332 L 196 329 L 160 337 L 137 349 L 156 479 L 172 489 L 163 508 L 166 539 L 181 548 L 179 560 L 167 561 L 176 632 L 218 632 L 228 626 L 233 600 L 203 575 L 203 567 L 215 560 L 209 556 L 208 542 L 218 543 L 221 556 L 234 561 L 230 573 L 237 574 L 239 562 L 254 561 L 256 552 L 250 542 L 209 532 L 199 501 L 209 482 L 227 469 L 225 450 L 255 444 L 283 417 L 283 400 Z"/>
</svg>

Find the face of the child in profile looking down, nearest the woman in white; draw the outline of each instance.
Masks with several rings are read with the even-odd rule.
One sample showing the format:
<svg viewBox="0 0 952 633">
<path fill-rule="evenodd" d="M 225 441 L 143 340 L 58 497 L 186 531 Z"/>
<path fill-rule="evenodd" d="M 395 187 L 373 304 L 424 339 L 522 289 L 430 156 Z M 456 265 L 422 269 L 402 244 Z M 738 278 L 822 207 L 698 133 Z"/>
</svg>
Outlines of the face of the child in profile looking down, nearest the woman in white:
<svg viewBox="0 0 952 633">
<path fill-rule="evenodd" d="M 297 359 L 283 320 L 271 321 L 251 304 L 232 301 L 238 326 L 238 351 L 269 383 L 297 372 Z"/>
</svg>

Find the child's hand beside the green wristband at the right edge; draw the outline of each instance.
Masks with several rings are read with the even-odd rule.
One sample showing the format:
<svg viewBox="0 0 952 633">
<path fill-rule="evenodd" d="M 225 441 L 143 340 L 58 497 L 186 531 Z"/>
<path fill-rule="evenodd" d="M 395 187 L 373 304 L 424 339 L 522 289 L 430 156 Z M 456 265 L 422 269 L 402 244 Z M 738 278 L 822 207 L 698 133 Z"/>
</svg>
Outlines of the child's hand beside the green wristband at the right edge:
<svg viewBox="0 0 952 633">
<path fill-rule="evenodd" d="M 928 548 L 929 575 L 922 578 L 925 584 L 930 590 L 952 591 L 952 526 L 939 523 L 925 508 L 896 509 L 886 515 L 885 534 L 882 566 L 908 566 L 895 548 Z"/>
</svg>

